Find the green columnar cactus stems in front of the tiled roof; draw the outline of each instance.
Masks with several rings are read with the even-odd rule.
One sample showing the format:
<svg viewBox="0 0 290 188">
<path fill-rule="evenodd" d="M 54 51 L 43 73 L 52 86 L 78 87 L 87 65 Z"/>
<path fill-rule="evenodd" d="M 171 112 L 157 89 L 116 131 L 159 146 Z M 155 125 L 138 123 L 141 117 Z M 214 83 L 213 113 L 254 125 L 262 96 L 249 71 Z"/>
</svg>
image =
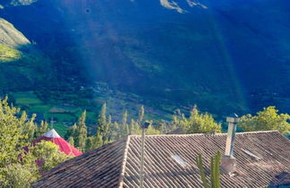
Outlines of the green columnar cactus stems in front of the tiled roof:
<svg viewBox="0 0 290 188">
<path fill-rule="evenodd" d="M 221 153 L 218 153 L 210 158 L 210 184 L 208 183 L 201 158 L 201 154 L 196 157 L 197 166 L 200 168 L 200 178 L 204 188 L 219 188 L 220 187 L 220 158 Z"/>
</svg>

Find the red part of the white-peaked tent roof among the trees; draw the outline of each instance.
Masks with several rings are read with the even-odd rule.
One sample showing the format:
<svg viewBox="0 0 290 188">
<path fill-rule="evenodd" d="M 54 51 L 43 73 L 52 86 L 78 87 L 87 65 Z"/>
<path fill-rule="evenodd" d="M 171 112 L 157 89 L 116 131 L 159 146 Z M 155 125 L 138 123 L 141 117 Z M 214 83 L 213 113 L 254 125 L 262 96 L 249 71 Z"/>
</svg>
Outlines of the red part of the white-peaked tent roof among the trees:
<svg viewBox="0 0 290 188">
<path fill-rule="evenodd" d="M 63 138 L 48 138 L 46 136 L 39 137 L 37 140 L 33 141 L 32 144 L 35 145 L 39 141 L 52 141 L 55 143 L 61 152 L 64 152 L 66 155 L 79 156 L 81 151 L 74 148 L 69 142 L 65 141 Z"/>
</svg>

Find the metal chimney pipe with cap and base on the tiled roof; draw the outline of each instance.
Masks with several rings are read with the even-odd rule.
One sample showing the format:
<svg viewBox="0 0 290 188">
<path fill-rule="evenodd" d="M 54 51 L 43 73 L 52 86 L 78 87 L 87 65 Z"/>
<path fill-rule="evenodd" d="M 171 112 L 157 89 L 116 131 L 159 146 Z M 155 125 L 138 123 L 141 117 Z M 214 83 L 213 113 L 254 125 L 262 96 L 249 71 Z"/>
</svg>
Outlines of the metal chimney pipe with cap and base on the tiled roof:
<svg viewBox="0 0 290 188">
<path fill-rule="evenodd" d="M 236 124 L 239 123 L 237 115 L 226 117 L 228 123 L 227 136 L 226 136 L 226 151 L 221 161 L 222 171 L 226 174 L 235 172 L 236 160 L 234 157 L 234 145 L 235 145 L 235 130 Z"/>
</svg>

